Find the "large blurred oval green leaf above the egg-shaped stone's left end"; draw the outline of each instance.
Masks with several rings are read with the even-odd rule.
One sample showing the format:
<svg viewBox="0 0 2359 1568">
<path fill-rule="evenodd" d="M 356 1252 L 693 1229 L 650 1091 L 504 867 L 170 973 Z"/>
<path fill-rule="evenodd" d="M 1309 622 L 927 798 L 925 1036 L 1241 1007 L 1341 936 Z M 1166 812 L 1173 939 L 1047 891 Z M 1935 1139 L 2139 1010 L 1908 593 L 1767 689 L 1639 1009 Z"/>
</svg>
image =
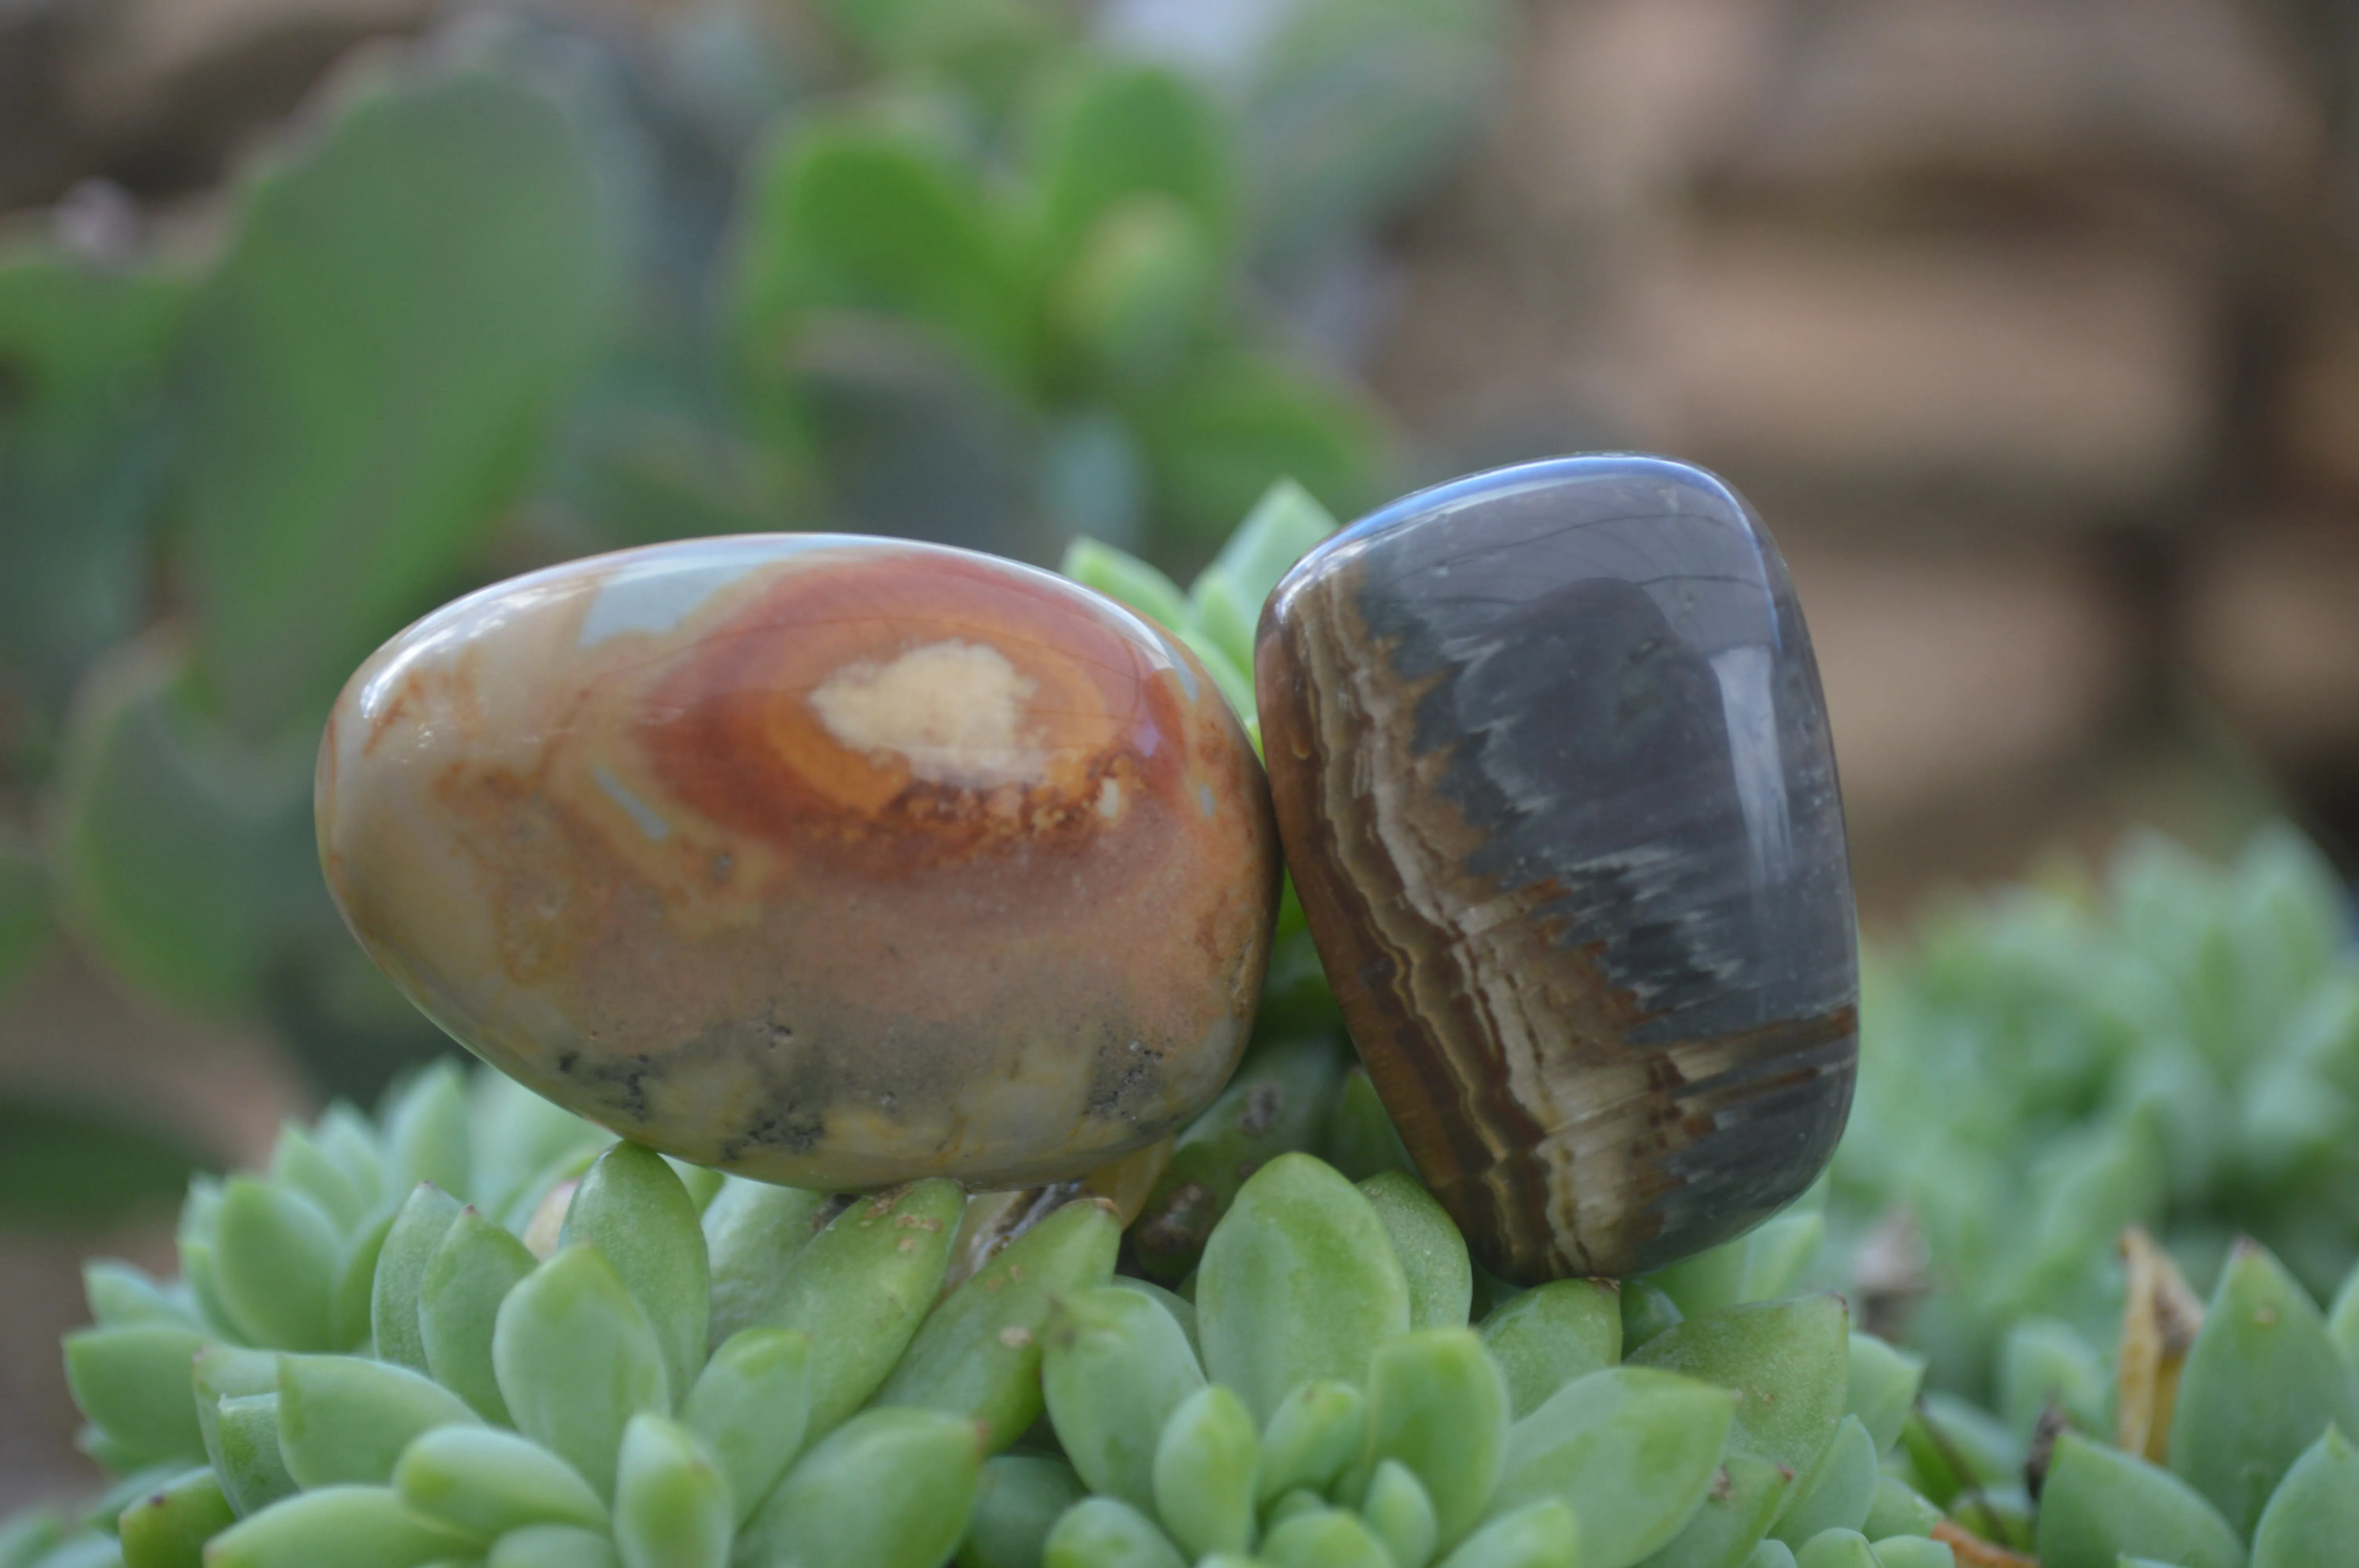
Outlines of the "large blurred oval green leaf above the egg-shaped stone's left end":
<svg viewBox="0 0 2359 1568">
<path fill-rule="evenodd" d="M 193 304 L 179 566 L 208 696 L 264 738 L 458 582 L 609 330 L 599 172 L 484 68 L 351 83 L 257 174 Z"/>
</svg>

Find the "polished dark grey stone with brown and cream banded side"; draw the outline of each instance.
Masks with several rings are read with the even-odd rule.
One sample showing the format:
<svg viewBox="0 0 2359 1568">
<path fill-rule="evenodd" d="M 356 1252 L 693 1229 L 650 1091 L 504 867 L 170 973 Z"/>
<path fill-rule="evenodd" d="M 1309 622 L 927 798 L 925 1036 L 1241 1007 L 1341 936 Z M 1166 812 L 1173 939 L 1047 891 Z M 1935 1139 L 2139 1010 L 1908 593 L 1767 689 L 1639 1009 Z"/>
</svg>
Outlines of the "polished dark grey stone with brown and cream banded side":
<svg viewBox="0 0 2359 1568">
<path fill-rule="evenodd" d="M 1411 495 L 1262 611 L 1286 858 L 1368 1073 L 1486 1269 L 1625 1276 L 1826 1165 L 1859 957 L 1809 634 L 1710 474 Z"/>
</svg>

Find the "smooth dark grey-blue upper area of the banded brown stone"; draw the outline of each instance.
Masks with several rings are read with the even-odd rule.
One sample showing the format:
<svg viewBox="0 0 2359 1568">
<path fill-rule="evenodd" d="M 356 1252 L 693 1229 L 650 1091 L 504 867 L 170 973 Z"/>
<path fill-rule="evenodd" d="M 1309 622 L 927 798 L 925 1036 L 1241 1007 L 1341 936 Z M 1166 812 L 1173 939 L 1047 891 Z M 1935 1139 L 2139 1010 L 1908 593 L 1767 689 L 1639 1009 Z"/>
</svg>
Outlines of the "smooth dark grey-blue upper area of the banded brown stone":
<svg viewBox="0 0 2359 1568">
<path fill-rule="evenodd" d="M 1786 568 L 1710 476 L 1573 457 L 1359 523 L 1354 599 L 1486 830 L 1470 870 L 1552 887 L 1682 1040 L 1852 1002 L 1857 957 L 1826 705 Z"/>
</svg>

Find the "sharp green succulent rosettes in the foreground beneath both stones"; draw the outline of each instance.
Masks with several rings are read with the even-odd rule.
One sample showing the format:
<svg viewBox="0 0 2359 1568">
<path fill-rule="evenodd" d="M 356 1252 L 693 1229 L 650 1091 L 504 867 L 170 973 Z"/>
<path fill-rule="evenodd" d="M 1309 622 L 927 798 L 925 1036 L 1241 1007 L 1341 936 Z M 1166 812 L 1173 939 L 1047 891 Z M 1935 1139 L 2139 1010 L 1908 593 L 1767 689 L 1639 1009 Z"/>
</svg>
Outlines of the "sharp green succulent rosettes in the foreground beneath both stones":
<svg viewBox="0 0 2359 1568">
<path fill-rule="evenodd" d="M 123 1481 L 0 1563 L 1949 1561 L 1932 1504 L 1871 1516 L 1918 1365 L 1757 1299 L 1809 1214 L 1507 1290 L 1404 1170 L 1279 1153 L 1172 1292 L 1104 1198 L 686 1174 L 451 1068 L 290 1127 L 196 1188 L 179 1280 L 90 1269 L 66 1356 Z"/>
</svg>

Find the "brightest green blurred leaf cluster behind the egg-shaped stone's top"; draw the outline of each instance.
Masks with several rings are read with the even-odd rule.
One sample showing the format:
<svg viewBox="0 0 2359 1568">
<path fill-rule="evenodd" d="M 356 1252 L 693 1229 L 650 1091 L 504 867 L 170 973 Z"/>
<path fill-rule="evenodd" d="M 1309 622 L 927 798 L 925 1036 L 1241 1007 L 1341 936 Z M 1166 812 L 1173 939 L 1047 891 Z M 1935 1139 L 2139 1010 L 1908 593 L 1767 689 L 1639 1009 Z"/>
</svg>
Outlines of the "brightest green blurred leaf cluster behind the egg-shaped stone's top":
<svg viewBox="0 0 2359 1568">
<path fill-rule="evenodd" d="M 885 434 L 960 429 L 948 401 L 998 403 L 1007 434 L 981 446 L 1024 453 L 1021 493 L 1000 509 L 1038 519 L 1033 533 L 1201 561 L 1279 474 L 1340 512 L 1375 500 L 1375 413 L 1274 351 L 1246 309 L 1241 174 L 1215 101 L 1161 66 L 1066 57 L 1026 104 L 1003 156 L 870 104 L 788 120 L 755 163 L 734 257 L 738 365 L 769 439 L 821 474 L 819 500 L 866 521 L 859 453 L 880 443 L 911 450 L 892 465 L 903 479 L 934 469 L 953 498 L 1005 493 L 951 441 Z M 903 361 L 934 368 L 899 387 L 875 375 Z M 962 375 L 986 384 L 955 391 Z M 830 413 L 845 387 L 878 394 L 863 439 Z M 1031 538 L 955 505 L 892 521 L 995 549 Z"/>
</svg>

